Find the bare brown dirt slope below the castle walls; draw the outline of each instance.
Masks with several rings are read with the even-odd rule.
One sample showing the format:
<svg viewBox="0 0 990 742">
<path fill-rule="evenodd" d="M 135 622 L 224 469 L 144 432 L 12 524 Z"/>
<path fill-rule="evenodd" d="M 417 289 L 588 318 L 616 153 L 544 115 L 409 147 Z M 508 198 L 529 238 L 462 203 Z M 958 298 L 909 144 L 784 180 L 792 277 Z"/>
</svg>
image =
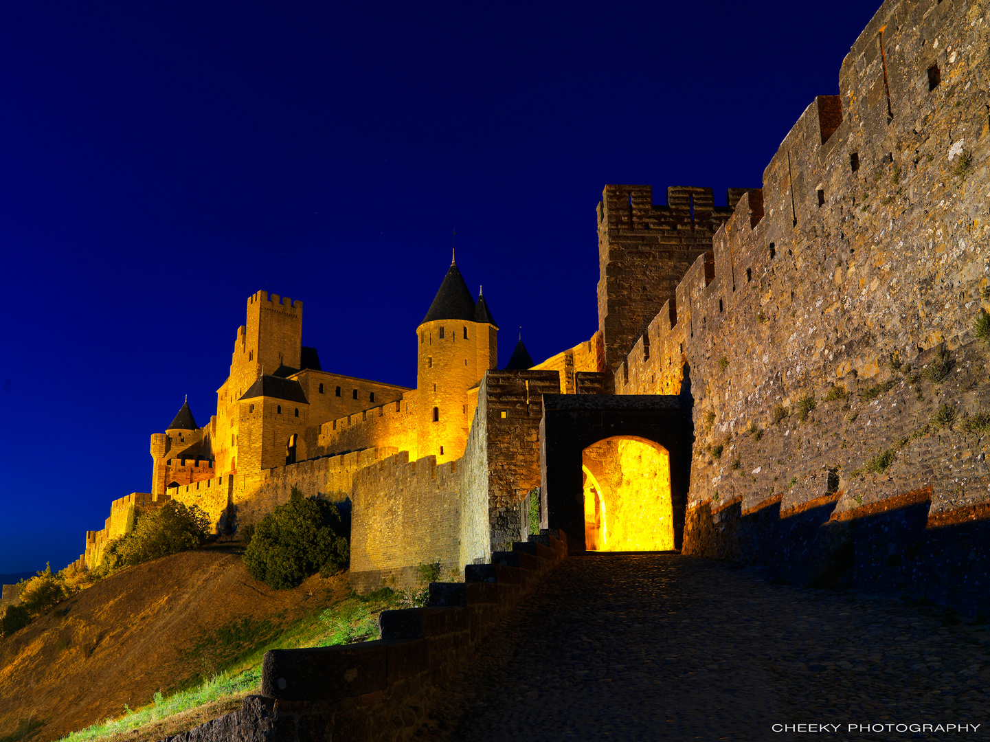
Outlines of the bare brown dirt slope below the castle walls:
<svg viewBox="0 0 990 742">
<path fill-rule="evenodd" d="M 216 629 L 244 617 L 288 623 L 340 599 L 346 585 L 315 576 L 273 590 L 224 547 L 118 573 L 0 641 L 0 737 L 28 719 L 45 722 L 33 737 L 44 742 L 119 716 L 125 703 L 137 708 L 209 673 L 188 652 Z"/>
</svg>

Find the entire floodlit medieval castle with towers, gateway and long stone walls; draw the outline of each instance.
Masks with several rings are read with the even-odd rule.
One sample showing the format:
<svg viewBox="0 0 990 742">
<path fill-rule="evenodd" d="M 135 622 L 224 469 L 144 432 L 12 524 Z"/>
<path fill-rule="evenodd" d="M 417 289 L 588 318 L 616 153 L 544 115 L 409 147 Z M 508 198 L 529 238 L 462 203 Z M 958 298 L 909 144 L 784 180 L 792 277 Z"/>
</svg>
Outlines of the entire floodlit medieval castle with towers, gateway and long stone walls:
<svg viewBox="0 0 990 742">
<path fill-rule="evenodd" d="M 367 590 L 488 559 L 539 497 L 572 550 L 626 521 L 656 532 L 639 548 L 985 605 L 988 50 L 984 4 L 887 0 L 762 188 L 718 207 L 606 186 L 598 328 L 540 364 L 520 346 L 496 368 L 498 325 L 452 263 L 415 389 L 323 371 L 302 302 L 251 295 L 216 414 L 183 405 L 151 436 L 149 491 L 77 564 L 168 498 L 237 533 L 295 486 L 350 499 Z"/>
</svg>

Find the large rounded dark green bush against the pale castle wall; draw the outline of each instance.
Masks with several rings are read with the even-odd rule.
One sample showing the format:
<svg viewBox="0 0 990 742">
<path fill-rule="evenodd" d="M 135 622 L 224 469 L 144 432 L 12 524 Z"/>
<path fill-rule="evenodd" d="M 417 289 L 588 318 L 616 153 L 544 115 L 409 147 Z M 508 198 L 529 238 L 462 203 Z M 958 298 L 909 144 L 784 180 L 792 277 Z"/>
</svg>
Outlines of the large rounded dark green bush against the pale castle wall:
<svg viewBox="0 0 990 742">
<path fill-rule="evenodd" d="M 247 545 L 247 572 L 275 589 L 295 587 L 318 570 L 347 566 L 350 544 L 341 513 L 316 498 L 286 502 L 264 516 Z"/>
</svg>

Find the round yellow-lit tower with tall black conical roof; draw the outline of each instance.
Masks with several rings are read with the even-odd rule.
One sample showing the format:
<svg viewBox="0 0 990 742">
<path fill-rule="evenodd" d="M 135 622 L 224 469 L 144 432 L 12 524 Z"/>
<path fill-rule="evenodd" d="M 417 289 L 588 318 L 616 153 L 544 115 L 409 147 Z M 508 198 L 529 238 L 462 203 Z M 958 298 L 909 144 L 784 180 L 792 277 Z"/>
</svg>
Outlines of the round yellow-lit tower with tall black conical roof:
<svg viewBox="0 0 990 742">
<path fill-rule="evenodd" d="M 467 390 L 498 368 L 498 325 L 479 292 L 475 302 L 451 260 L 430 310 L 416 330 L 417 458 L 438 463 L 464 453 Z"/>
</svg>

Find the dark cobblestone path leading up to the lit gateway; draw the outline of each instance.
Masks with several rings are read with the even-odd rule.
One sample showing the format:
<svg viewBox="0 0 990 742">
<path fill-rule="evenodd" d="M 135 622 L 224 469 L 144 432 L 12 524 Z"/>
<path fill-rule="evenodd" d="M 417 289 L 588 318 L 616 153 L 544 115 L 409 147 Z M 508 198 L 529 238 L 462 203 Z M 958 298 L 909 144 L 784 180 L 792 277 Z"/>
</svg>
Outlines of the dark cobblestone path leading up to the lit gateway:
<svg viewBox="0 0 990 742">
<path fill-rule="evenodd" d="M 766 583 L 691 557 L 571 557 L 482 645 L 421 736 L 990 739 L 988 634 L 944 622 L 932 609 Z M 841 731 L 772 731 L 797 723 Z"/>
</svg>

